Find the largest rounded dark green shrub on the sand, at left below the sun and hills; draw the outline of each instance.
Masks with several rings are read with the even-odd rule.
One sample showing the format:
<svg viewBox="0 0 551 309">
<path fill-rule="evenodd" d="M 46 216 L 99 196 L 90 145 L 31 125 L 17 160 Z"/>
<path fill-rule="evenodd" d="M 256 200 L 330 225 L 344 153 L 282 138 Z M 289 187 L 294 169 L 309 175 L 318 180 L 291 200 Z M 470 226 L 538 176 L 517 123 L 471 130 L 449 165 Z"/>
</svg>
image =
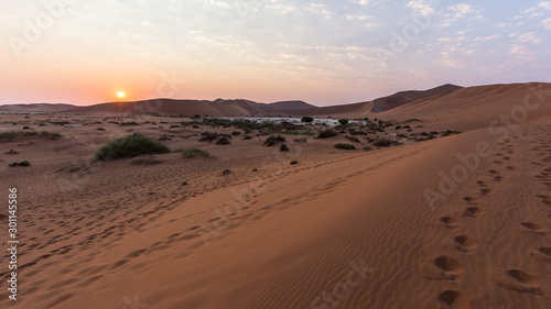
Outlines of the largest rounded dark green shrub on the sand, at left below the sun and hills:
<svg viewBox="0 0 551 309">
<path fill-rule="evenodd" d="M 94 161 L 110 161 L 149 154 L 165 154 L 171 150 L 165 145 L 143 135 L 130 135 L 116 139 L 101 146 Z"/>
</svg>

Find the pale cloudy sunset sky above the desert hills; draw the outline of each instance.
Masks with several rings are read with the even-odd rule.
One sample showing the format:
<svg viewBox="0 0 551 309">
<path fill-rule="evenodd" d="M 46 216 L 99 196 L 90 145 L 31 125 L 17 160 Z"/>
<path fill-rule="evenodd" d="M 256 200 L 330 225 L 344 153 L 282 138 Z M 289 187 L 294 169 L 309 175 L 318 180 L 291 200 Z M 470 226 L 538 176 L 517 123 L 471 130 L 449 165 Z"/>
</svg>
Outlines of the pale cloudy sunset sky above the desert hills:
<svg viewBox="0 0 551 309">
<path fill-rule="evenodd" d="M 551 81 L 550 38 L 551 1 L 0 0 L 0 104 Z"/>
</svg>

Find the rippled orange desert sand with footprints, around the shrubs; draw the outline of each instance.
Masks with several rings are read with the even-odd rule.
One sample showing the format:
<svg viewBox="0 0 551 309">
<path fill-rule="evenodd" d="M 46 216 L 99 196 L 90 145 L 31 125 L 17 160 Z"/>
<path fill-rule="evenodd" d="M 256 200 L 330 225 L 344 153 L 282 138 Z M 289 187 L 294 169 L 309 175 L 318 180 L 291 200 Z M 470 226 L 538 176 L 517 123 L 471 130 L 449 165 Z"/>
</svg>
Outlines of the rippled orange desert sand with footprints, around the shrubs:
<svg viewBox="0 0 551 309">
<path fill-rule="evenodd" d="M 266 136 L 220 146 L 197 141 L 203 126 L 169 129 L 175 118 L 2 114 L 2 128 L 63 137 L 0 143 L 21 241 L 19 300 L 2 288 L 0 307 L 551 308 L 550 97 L 549 84 L 495 85 L 333 108 L 463 132 L 371 151 L 334 148 L 343 135 L 289 153 Z M 213 157 L 90 163 L 133 132 Z M 21 161 L 32 166 L 8 167 Z"/>
</svg>

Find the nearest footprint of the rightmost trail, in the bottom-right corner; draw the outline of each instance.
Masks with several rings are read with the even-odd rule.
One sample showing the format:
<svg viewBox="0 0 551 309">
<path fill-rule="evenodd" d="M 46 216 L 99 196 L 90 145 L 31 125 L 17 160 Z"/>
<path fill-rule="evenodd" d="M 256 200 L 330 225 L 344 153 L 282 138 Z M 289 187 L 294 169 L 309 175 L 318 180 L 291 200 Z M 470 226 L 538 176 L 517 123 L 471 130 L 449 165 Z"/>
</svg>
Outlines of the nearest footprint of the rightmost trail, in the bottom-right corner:
<svg viewBox="0 0 551 309">
<path fill-rule="evenodd" d="M 522 293 L 543 295 L 540 280 L 530 274 L 520 269 L 496 269 L 490 274 L 491 279 L 499 286 Z"/>
</svg>

